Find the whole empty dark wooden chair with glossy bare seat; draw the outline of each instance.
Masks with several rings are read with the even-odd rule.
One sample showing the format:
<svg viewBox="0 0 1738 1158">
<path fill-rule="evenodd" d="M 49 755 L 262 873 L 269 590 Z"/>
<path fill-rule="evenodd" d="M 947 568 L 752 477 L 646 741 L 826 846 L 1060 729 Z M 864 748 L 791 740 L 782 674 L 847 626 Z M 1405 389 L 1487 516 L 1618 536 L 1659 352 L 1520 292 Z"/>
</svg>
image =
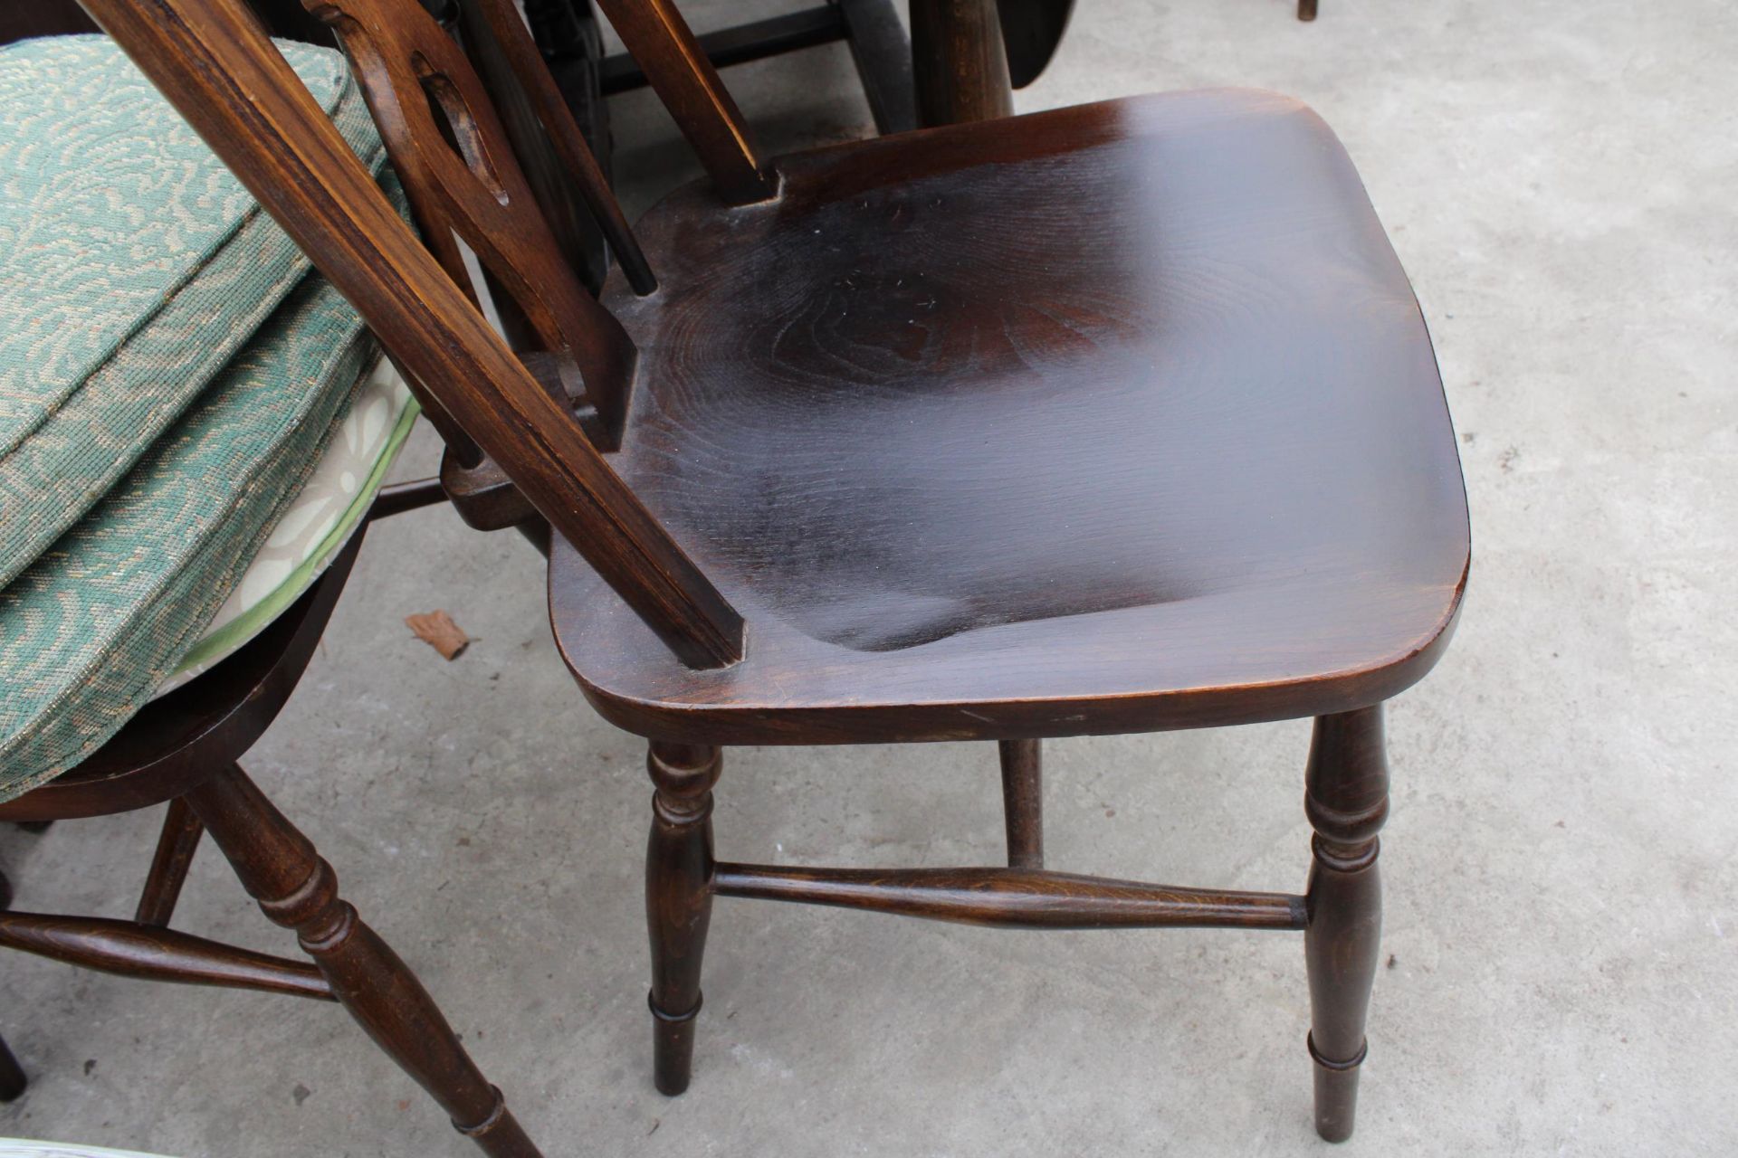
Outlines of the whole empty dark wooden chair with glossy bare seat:
<svg viewBox="0 0 1738 1158">
<path fill-rule="evenodd" d="M 711 181 L 647 215 L 652 278 L 612 276 L 607 311 L 551 259 L 450 42 L 401 0 L 315 0 L 424 226 L 520 299 L 572 363 L 561 392 L 391 215 L 235 0 L 85 3 L 547 517 L 561 651 L 650 741 L 659 1089 L 688 1083 L 714 896 L 1290 929 L 1316 1125 L 1350 1134 L 1382 705 L 1446 646 L 1469 531 L 1416 302 L 1309 109 L 1173 94 L 766 163 L 669 0 L 608 0 Z M 1304 894 L 1043 866 L 1041 738 L 1288 717 L 1316 717 Z M 926 740 L 998 741 L 1010 866 L 714 858 L 721 745 Z"/>
</svg>

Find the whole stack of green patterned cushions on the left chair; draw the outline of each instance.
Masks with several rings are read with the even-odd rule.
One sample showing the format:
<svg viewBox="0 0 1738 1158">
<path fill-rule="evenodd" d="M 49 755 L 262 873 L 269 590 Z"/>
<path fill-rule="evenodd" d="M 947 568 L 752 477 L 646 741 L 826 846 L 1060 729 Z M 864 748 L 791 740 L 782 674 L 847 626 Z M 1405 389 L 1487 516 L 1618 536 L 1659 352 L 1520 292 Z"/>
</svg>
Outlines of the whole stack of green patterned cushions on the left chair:
<svg viewBox="0 0 1738 1158">
<path fill-rule="evenodd" d="M 280 47 L 381 168 L 342 57 Z M 356 313 L 111 42 L 0 49 L 0 799 L 287 606 L 412 415 Z M 335 483 L 276 535 L 323 458 Z"/>
</svg>

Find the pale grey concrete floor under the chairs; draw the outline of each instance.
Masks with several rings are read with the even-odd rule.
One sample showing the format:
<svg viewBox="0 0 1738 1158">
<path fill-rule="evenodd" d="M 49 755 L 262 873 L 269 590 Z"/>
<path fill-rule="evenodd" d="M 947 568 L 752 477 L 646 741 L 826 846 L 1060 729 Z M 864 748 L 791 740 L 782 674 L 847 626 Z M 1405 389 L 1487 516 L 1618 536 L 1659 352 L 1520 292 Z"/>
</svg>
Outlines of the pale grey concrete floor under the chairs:
<svg viewBox="0 0 1738 1158">
<path fill-rule="evenodd" d="M 685 7 L 704 28 L 746 5 Z M 1458 639 L 1390 715 L 1389 957 L 1345 1155 L 1738 1153 L 1735 47 L 1724 0 L 1324 0 L 1312 26 L 1283 0 L 1090 0 L 1020 94 L 1304 97 L 1436 333 L 1476 564 Z M 728 80 L 775 148 L 864 128 L 838 47 Z M 643 203 L 681 146 L 640 97 L 617 130 Z M 403 474 L 431 462 L 421 438 Z M 401 623 L 433 608 L 476 637 L 455 663 Z M 1298 889 L 1307 736 L 1053 743 L 1051 861 Z M 655 1094 L 641 745 L 574 693 L 535 556 L 447 512 L 370 535 L 249 764 L 551 1156 L 1324 1149 L 1279 934 L 720 901 L 695 1083 Z M 0 832 L 19 906 L 129 913 L 155 823 Z M 732 752 L 716 828 L 735 859 L 994 863 L 994 752 Z M 209 849 L 177 924 L 289 948 Z M 0 1023 L 35 1075 L 0 1134 L 469 1153 L 334 1009 L 9 955 Z"/>
</svg>

